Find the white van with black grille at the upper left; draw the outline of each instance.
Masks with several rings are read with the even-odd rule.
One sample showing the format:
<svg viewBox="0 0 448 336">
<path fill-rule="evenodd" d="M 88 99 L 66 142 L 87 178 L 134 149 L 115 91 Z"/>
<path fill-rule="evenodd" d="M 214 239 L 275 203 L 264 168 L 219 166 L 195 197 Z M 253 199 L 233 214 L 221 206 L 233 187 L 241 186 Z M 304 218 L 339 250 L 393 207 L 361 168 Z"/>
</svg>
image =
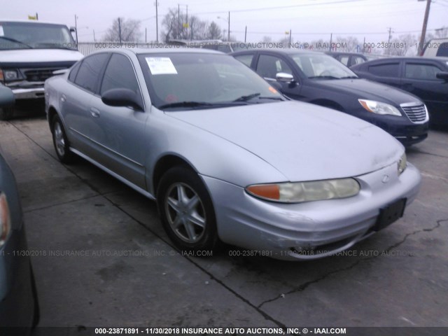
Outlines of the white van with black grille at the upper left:
<svg viewBox="0 0 448 336">
<path fill-rule="evenodd" d="M 45 80 L 82 57 L 66 25 L 0 19 L 0 83 L 13 90 L 16 101 L 44 99 Z M 0 108 L 0 120 L 13 113 Z"/>
</svg>

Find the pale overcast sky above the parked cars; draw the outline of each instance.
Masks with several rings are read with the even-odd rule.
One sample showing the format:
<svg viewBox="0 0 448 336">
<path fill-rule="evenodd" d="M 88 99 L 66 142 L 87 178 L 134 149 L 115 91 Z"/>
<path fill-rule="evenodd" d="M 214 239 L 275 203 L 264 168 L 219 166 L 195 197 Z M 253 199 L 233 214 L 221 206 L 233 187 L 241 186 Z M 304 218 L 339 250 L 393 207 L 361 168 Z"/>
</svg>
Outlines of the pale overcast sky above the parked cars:
<svg viewBox="0 0 448 336">
<path fill-rule="evenodd" d="M 168 8 L 178 8 L 179 0 L 158 0 L 159 32 Z M 419 36 L 426 1 L 418 0 L 181 0 L 181 10 L 188 6 L 188 15 L 215 21 L 222 29 L 228 27 L 238 41 L 261 41 L 270 36 L 273 41 L 291 30 L 293 41 L 311 42 L 318 38 L 356 36 L 359 41 L 387 41 L 388 28 L 393 38 L 403 34 Z M 155 0 L 0 0 L 0 19 L 26 20 L 38 13 L 41 21 L 75 25 L 78 16 L 79 41 L 97 40 L 118 16 L 141 20 L 148 41 L 155 41 Z M 218 18 L 220 17 L 220 18 Z M 448 27 L 448 0 L 433 0 L 428 32 Z M 159 34 L 159 36 L 161 36 Z"/>
</svg>

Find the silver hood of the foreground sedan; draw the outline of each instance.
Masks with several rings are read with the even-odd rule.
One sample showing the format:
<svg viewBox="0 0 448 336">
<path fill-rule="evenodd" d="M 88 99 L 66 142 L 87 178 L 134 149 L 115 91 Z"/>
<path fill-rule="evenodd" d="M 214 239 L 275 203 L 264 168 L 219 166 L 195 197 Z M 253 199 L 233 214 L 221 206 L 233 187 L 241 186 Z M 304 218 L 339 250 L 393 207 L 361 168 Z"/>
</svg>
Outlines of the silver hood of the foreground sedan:
<svg viewBox="0 0 448 336">
<path fill-rule="evenodd" d="M 166 113 L 257 155 L 289 181 L 362 175 L 397 162 L 404 151 L 379 127 L 302 102 Z"/>
</svg>

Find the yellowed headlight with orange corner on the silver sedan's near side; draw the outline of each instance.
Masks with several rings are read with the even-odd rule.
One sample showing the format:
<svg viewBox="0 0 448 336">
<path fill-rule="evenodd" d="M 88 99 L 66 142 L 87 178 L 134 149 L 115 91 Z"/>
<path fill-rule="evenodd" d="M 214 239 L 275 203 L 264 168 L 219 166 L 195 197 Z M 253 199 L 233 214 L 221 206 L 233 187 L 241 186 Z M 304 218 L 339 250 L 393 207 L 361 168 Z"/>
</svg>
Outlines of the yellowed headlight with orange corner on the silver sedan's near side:
<svg viewBox="0 0 448 336">
<path fill-rule="evenodd" d="M 359 183 L 355 179 L 254 184 L 246 188 L 250 195 L 281 203 L 345 198 L 357 195 L 359 190 Z"/>
</svg>

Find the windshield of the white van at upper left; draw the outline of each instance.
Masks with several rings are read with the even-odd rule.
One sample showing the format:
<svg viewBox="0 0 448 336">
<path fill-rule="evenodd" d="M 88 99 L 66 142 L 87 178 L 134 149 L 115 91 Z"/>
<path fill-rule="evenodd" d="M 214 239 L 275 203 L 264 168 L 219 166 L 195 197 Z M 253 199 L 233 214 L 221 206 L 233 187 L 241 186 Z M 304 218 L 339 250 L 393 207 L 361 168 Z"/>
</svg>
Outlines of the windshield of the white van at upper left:
<svg viewBox="0 0 448 336">
<path fill-rule="evenodd" d="M 0 22 L 0 50 L 55 48 L 76 50 L 76 43 L 64 25 Z"/>
</svg>

